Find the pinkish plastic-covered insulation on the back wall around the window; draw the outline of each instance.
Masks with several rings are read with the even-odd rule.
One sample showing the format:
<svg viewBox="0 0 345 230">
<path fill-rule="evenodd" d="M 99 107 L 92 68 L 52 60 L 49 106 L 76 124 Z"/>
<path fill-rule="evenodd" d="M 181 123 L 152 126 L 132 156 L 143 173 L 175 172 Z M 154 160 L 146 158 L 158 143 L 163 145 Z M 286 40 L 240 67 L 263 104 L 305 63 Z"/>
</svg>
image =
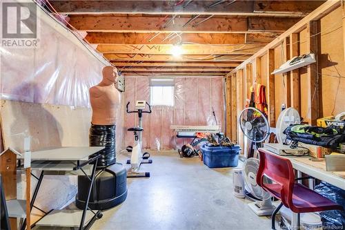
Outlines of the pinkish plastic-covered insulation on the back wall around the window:
<svg viewBox="0 0 345 230">
<path fill-rule="evenodd" d="M 170 125 L 204 126 L 217 123 L 224 129 L 224 90 L 221 77 L 175 77 L 174 106 L 153 106 L 151 114 L 143 115 L 143 148 L 168 150 L 190 142 L 177 138 Z M 125 102 L 134 106 L 136 100 L 150 103 L 150 77 L 126 77 Z M 124 147 L 133 145 L 134 136 L 127 128 L 138 125 L 136 113 L 125 114 Z"/>
</svg>

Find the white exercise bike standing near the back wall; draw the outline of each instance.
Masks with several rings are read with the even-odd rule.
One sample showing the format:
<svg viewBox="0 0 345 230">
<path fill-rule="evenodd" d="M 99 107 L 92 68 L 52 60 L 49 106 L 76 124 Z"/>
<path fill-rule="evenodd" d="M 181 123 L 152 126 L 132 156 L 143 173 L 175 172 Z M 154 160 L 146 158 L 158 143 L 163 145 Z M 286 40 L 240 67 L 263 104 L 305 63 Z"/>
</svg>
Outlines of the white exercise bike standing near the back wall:
<svg viewBox="0 0 345 230">
<path fill-rule="evenodd" d="M 142 132 L 144 131 L 143 127 L 143 113 L 152 113 L 151 106 L 146 101 L 137 101 L 135 104 L 135 111 L 129 111 L 129 104 L 126 105 L 127 113 L 137 113 L 139 117 L 139 125 L 137 127 L 128 128 L 127 131 L 132 131 L 135 137 L 134 146 L 128 146 L 126 150 L 132 152 L 130 160 L 127 160 L 127 164 L 131 165 L 130 172 L 127 173 L 127 178 L 150 178 L 150 172 L 139 172 L 141 164 L 152 164 L 152 160 L 149 160 L 150 153 L 142 151 Z M 148 111 L 144 111 L 148 105 Z"/>
</svg>

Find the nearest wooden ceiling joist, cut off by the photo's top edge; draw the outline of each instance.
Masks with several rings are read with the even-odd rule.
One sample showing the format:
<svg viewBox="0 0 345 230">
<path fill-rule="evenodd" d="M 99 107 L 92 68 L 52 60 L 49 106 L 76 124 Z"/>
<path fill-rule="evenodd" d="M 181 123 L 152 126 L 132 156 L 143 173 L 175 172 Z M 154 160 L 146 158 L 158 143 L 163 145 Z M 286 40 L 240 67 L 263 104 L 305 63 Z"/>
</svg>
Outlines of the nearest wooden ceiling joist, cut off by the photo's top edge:
<svg viewBox="0 0 345 230">
<path fill-rule="evenodd" d="M 235 1 L 208 8 L 213 1 L 192 1 L 176 6 L 178 1 L 60 1 L 50 3 L 58 11 L 72 14 L 152 14 L 152 15 L 258 15 L 273 17 L 304 17 L 324 1 Z"/>
</svg>

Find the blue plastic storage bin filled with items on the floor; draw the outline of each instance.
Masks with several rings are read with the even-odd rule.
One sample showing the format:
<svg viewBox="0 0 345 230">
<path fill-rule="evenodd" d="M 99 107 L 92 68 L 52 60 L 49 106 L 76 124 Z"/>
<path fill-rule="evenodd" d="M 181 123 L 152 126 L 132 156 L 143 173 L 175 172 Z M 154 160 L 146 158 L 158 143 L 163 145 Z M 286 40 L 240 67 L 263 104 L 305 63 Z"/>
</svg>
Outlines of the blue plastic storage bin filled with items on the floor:
<svg viewBox="0 0 345 230">
<path fill-rule="evenodd" d="M 225 146 L 207 146 L 204 144 L 200 147 L 202 160 L 208 168 L 236 167 L 238 164 L 239 145 L 233 147 Z"/>
</svg>

